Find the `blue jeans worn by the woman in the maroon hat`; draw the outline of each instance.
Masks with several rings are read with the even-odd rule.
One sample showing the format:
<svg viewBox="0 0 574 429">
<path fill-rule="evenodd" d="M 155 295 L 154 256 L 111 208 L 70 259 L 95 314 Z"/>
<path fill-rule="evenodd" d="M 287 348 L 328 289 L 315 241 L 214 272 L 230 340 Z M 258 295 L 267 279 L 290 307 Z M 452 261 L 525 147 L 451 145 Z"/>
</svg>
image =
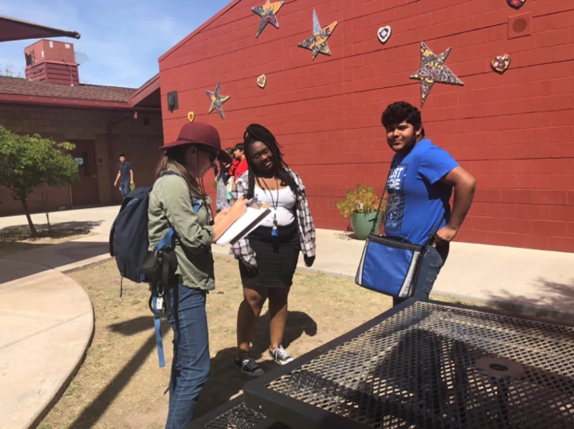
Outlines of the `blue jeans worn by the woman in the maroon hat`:
<svg viewBox="0 0 574 429">
<path fill-rule="evenodd" d="M 206 292 L 178 285 L 172 289 L 173 362 L 165 429 L 184 429 L 193 418 L 197 397 L 210 373 L 205 314 Z"/>
</svg>

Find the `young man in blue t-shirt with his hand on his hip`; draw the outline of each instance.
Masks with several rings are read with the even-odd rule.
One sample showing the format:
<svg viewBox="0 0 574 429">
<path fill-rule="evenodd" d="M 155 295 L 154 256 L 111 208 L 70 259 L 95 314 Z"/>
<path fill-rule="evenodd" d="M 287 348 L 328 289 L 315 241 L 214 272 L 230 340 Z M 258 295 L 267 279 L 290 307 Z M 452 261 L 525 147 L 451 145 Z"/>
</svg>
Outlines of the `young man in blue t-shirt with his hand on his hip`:
<svg viewBox="0 0 574 429">
<path fill-rule="evenodd" d="M 393 103 L 382 115 L 387 143 L 394 150 L 386 191 L 385 235 L 425 244 L 414 296 L 428 299 L 474 198 L 476 180 L 444 149 L 425 138 L 420 111 L 406 102 Z M 455 190 L 453 206 L 449 204 Z M 394 298 L 393 304 L 402 302 Z"/>
</svg>

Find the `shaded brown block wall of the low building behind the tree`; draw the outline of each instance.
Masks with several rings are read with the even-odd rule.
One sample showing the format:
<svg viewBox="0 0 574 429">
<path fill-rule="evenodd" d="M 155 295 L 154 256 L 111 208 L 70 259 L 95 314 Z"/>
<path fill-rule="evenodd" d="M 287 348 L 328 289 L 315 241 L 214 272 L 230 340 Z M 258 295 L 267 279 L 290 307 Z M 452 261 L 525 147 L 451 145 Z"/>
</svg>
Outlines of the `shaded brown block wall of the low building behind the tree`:
<svg viewBox="0 0 574 429">
<path fill-rule="evenodd" d="M 127 118 L 111 128 L 111 153 L 106 125 Z M 144 126 L 144 118 L 149 125 Z M 90 109 L 66 109 L 34 105 L 9 105 L 0 103 L 0 125 L 20 134 L 38 133 L 42 137 L 61 140 L 94 140 L 98 162 L 99 201 L 101 206 L 121 203 L 121 194 L 113 183 L 118 172 L 119 154 L 126 153 L 134 168 L 135 184 L 153 183 L 163 137 L 161 115 Z M 69 188 L 44 187 L 29 197 L 31 211 L 42 210 L 40 192 L 48 192 L 49 209 L 69 208 Z M 0 186 L 0 216 L 22 213 L 22 204 L 15 201 L 10 191 Z"/>
</svg>

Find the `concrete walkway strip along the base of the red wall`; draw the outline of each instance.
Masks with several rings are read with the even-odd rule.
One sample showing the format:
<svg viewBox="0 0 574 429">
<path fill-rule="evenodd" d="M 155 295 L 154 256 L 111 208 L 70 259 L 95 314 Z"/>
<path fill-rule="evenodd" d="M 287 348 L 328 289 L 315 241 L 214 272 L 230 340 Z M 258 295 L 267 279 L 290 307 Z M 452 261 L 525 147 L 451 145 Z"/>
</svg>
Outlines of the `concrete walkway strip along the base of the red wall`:
<svg viewBox="0 0 574 429">
<path fill-rule="evenodd" d="M 364 242 L 340 231 L 317 230 L 317 259 L 311 269 L 354 280 Z M 214 253 L 228 248 L 214 246 Z M 431 298 L 563 320 L 574 320 L 574 253 L 452 243 Z"/>
</svg>

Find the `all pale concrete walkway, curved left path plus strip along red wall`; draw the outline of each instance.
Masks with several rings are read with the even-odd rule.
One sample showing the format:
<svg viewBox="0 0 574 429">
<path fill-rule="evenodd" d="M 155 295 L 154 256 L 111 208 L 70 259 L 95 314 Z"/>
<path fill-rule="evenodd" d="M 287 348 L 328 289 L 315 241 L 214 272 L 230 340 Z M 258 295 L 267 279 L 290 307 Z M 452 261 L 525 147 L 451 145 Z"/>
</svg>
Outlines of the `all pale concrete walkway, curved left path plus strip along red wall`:
<svg viewBox="0 0 574 429">
<path fill-rule="evenodd" d="M 81 364 L 94 315 L 86 293 L 63 273 L 109 258 L 117 213 L 118 207 L 55 212 L 52 224 L 89 226 L 95 235 L 0 258 L 0 428 L 37 424 Z M 33 220 L 39 226 L 45 215 Z M 17 225 L 26 226 L 25 217 L 0 218 L 0 230 Z M 318 230 L 317 259 L 308 270 L 354 279 L 363 245 Z M 228 256 L 228 248 L 213 250 Z M 453 243 L 431 296 L 573 320 L 574 254 Z"/>
</svg>

